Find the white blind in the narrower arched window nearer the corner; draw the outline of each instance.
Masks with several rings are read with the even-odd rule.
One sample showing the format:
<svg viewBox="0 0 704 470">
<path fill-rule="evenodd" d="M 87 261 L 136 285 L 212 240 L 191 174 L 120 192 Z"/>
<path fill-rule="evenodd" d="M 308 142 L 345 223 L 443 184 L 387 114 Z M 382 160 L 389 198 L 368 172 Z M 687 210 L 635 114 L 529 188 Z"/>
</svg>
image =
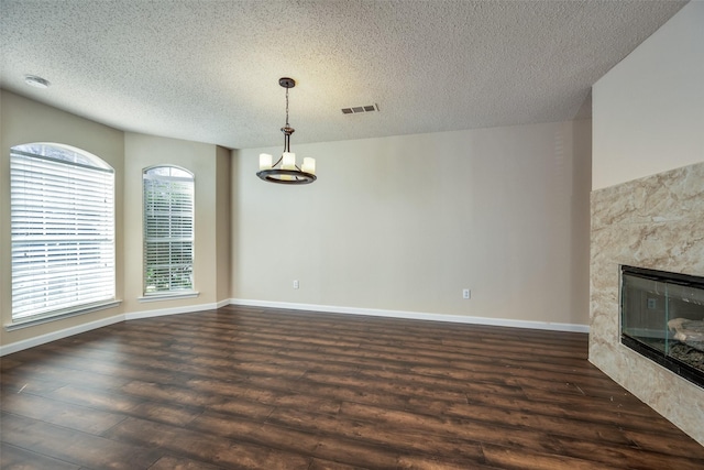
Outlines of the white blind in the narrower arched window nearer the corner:
<svg viewBox="0 0 704 470">
<path fill-rule="evenodd" d="M 194 176 L 175 166 L 144 172 L 144 294 L 194 287 Z"/>
</svg>

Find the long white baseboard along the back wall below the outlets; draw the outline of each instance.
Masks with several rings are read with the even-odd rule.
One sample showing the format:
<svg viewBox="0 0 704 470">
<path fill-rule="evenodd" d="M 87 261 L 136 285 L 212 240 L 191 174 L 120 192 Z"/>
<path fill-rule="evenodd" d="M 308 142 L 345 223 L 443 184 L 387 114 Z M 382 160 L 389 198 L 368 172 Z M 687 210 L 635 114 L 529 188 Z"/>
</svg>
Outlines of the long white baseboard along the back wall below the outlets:
<svg viewBox="0 0 704 470">
<path fill-rule="evenodd" d="M 333 305 L 296 304 L 288 302 L 252 300 L 231 298 L 231 305 L 284 308 L 289 310 L 324 311 L 330 314 L 369 315 L 373 317 L 406 318 L 413 320 L 448 321 L 455 324 L 490 325 L 512 328 L 541 329 L 551 331 L 590 332 L 588 325 L 556 324 L 549 321 L 514 320 L 508 318 L 469 317 L 463 315 L 429 314 L 422 311 L 384 310 L 377 308 L 339 307 Z"/>
</svg>

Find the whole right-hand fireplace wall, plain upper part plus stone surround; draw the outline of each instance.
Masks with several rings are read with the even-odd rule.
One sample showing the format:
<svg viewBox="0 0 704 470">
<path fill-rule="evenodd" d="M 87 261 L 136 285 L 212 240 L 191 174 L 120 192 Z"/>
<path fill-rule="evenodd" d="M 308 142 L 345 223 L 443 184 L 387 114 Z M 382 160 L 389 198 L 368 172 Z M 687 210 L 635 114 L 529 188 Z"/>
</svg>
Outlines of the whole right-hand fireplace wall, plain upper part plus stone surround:
<svg viewBox="0 0 704 470">
<path fill-rule="evenodd" d="M 703 24 L 686 4 L 594 86 L 590 360 L 704 445 L 704 390 L 618 326 L 619 264 L 704 275 Z"/>
</svg>

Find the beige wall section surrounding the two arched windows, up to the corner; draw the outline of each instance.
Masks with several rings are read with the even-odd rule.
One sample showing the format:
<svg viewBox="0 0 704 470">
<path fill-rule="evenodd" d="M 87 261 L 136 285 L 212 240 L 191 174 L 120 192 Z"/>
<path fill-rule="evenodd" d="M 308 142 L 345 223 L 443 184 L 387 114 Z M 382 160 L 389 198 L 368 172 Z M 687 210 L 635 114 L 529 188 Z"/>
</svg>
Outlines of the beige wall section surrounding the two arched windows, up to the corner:
<svg viewBox="0 0 704 470">
<path fill-rule="evenodd" d="M 0 160 L 0 346 L 33 345 L 90 328 L 125 314 L 184 311 L 212 307 L 230 289 L 230 151 L 211 144 L 165 139 L 116 129 L 36 101 L 1 91 Z M 116 171 L 117 298 L 114 308 L 8 331 L 11 313 L 10 147 L 57 142 L 94 153 Z M 183 166 L 196 175 L 196 298 L 140 303 L 142 295 L 142 170 Z M 21 347 L 20 347 L 21 348 Z M 7 350 L 7 349 L 3 349 Z M 1 351 L 0 351 L 1 352 Z"/>
</svg>

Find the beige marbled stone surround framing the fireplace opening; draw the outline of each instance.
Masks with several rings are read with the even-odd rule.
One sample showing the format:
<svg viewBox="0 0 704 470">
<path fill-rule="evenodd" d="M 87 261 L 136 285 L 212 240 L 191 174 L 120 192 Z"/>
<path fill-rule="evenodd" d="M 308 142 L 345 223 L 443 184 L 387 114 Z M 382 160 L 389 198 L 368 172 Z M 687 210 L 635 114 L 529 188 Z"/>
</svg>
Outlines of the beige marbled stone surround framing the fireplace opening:
<svg viewBox="0 0 704 470">
<path fill-rule="evenodd" d="M 704 445 L 704 390 L 626 348 L 619 266 L 704 276 L 704 163 L 592 192 L 590 361 Z"/>
</svg>

